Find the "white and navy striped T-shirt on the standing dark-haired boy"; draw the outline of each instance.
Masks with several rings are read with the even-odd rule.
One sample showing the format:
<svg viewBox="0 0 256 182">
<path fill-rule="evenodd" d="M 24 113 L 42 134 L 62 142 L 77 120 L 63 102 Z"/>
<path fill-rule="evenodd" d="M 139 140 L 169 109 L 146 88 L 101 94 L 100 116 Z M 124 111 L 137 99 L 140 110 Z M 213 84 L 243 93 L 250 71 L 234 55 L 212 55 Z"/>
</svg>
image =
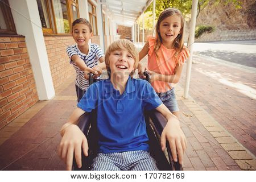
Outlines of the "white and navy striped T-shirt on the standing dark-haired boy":
<svg viewBox="0 0 256 182">
<path fill-rule="evenodd" d="M 77 67 L 75 62 L 72 61 L 71 57 L 73 55 L 78 55 L 82 60 L 84 60 L 88 68 L 93 68 L 98 64 L 100 58 L 104 56 L 104 53 L 101 51 L 101 48 L 97 44 L 89 44 L 88 55 L 82 53 L 77 45 L 68 46 L 67 53 L 70 58 L 70 64 L 72 64 L 76 70 L 76 85 L 82 90 L 87 90 L 89 87 L 89 82 L 84 78 L 84 72 L 81 71 L 79 67 Z"/>
</svg>

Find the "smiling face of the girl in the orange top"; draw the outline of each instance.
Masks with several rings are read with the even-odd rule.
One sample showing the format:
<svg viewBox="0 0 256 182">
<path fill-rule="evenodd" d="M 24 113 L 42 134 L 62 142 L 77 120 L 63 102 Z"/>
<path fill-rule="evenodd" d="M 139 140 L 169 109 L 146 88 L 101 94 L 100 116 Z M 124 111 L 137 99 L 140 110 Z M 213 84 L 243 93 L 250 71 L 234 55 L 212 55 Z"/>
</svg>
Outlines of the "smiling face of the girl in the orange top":
<svg viewBox="0 0 256 182">
<path fill-rule="evenodd" d="M 180 34 L 181 18 L 179 15 L 174 14 L 163 19 L 159 25 L 159 34 L 162 38 L 164 46 L 170 47 L 173 45 L 174 40 Z"/>
</svg>

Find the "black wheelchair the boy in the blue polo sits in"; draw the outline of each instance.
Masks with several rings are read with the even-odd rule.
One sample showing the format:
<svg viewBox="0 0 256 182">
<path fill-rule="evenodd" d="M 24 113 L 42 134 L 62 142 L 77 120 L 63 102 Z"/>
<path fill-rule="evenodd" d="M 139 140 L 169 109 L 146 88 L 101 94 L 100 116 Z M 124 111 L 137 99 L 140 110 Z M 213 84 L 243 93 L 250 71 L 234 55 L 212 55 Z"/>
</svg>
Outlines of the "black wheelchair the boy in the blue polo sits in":
<svg viewBox="0 0 256 182">
<path fill-rule="evenodd" d="M 150 75 L 144 72 L 146 80 L 150 82 Z M 89 73 L 89 85 L 93 82 L 99 81 L 93 78 L 93 74 Z M 98 151 L 98 134 L 97 134 L 97 109 L 90 113 L 85 113 L 79 118 L 77 126 L 85 134 L 88 140 L 88 156 L 86 157 L 82 152 L 82 167 L 78 168 L 75 157 L 73 158 L 72 170 L 75 171 L 90 171 L 93 159 L 96 158 Z M 146 122 L 146 130 L 148 135 L 148 144 L 150 146 L 150 154 L 156 160 L 156 165 L 160 171 L 182 171 L 183 167 L 178 162 L 174 162 L 171 154 L 171 149 L 166 143 L 166 150 L 161 150 L 160 136 L 164 127 L 166 126 L 166 118 L 156 110 L 144 111 Z"/>
</svg>

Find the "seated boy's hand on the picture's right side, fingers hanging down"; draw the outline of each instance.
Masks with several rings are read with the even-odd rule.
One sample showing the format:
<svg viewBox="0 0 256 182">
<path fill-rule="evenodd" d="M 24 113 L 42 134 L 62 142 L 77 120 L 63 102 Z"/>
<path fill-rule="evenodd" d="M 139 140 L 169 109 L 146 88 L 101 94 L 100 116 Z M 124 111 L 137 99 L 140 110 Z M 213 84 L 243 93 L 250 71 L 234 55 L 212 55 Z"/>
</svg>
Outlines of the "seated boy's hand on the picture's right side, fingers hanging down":
<svg viewBox="0 0 256 182">
<path fill-rule="evenodd" d="M 177 162 L 177 156 L 179 156 L 179 163 L 183 164 L 183 154 L 187 148 L 187 140 L 179 126 L 179 120 L 172 119 L 168 121 L 166 127 L 164 127 L 161 135 L 162 150 L 166 148 L 166 140 L 168 140 L 170 144 L 174 161 Z"/>
</svg>

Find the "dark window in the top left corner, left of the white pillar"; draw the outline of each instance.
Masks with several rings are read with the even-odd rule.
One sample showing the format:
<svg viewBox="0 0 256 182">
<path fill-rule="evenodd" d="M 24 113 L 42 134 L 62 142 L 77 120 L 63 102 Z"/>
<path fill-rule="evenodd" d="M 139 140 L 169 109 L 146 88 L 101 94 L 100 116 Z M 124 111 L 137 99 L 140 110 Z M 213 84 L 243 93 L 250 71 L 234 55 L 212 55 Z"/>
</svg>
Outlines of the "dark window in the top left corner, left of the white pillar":
<svg viewBox="0 0 256 182">
<path fill-rule="evenodd" d="M 16 34 L 8 0 L 0 1 L 0 34 Z"/>
</svg>

